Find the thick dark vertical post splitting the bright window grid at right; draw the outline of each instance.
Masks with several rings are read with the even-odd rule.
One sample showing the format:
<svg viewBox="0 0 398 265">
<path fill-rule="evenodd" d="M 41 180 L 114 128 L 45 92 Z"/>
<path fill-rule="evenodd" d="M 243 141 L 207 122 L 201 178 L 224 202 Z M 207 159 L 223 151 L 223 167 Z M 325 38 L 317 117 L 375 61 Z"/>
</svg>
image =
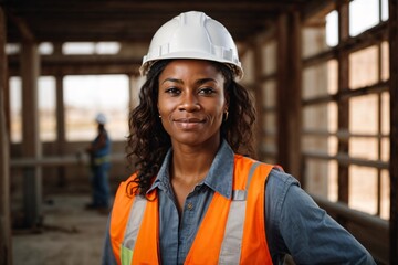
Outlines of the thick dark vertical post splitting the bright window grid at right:
<svg viewBox="0 0 398 265">
<path fill-rule="evenodd" d="M 338 7 L 338 40 L 343 41 L 349 36 L 348 32 L 348 3 L 342 3 Z M 338 56 L 338 89 L 343 91 L 349 86 L 349 63 L 348 54 L 346 52 L 339 52 Z M 348 98 L 343 98 L 338 102 L 338 130 L 347 130 L 349 127 L 349 102 Z M 348 153 L 349 139 L 338 140 L 338 153 Z M 349 179 L 348 179 L 348 166 L 338 165 L 338 201 L 348 203 L 349 192 Z"/>
</svg>

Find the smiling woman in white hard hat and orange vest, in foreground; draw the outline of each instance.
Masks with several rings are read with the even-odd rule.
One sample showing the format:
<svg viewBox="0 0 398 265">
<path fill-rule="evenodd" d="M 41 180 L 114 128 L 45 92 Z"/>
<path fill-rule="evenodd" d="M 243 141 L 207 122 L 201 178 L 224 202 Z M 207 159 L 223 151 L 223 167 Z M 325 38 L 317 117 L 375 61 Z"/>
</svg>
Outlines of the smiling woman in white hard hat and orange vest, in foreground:
<svg viewBox="0 0 398 265">
<path fill-rule="evenodd" d="M 286 254 L 375 264 L 293 177 L 247 157 L 255 113 L 222 24 L 179 14 L 140 71 L 128 137 L 136 173 L 115 197 L 103 264 L 281 264 Z"/>
</svg>

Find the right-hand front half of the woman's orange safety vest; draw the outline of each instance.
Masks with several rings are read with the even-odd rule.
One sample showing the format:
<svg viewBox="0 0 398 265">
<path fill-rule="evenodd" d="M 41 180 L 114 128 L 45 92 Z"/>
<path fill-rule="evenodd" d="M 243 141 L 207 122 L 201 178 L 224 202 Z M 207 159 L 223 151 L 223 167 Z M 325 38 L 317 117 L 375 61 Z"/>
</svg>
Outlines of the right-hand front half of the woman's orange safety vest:
<svg viewBox="0 0 398 265">
<path fill-rule="evenodd" d="M 258 209 L 264 205 L 265 180 L 272 168 L 235 156 L 232 199 L 214 193 L 185 264 L 272 264 L 268 263 L 264 211 Z"/>
</svg>

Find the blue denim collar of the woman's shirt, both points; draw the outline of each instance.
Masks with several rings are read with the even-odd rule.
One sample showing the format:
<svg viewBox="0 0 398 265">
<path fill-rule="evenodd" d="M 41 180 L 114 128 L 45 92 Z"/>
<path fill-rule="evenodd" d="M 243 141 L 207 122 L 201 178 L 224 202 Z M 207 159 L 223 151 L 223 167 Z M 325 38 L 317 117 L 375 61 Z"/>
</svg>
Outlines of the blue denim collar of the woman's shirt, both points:
<svg viewBox="0 0 398 265">
<path fill-rule="evenodd" d="M 169 166 L 172 156 L 172 148 L 170 148 L 163 161 L 163 165 L 158 171 L 158 174 L 148 190 L 147 193 L 158 188 L 171 193 Z M 227 199 L 232 197 L 232 177 L 233 177 L 233 163 L 234 153 L 231 147 L 226 140 L 221 141 L 220 149 L 218 150 L 214 160 L 211 163 L 210 170 L 205 180 L 198 186 L 206 184 L 214 192 L 220 193 Z"/>
</svg>

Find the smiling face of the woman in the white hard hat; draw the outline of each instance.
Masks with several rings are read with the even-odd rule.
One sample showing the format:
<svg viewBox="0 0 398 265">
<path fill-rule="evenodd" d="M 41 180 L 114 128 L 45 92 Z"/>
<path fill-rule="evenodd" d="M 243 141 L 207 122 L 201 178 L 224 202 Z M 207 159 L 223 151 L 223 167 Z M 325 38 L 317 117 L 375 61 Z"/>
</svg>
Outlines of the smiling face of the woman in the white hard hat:
<svg viewBox="0 0 398 265">
<path fill-rule="evenodd" d="M 208 61 L 175 60 L 159 76 L 158 110 L 172 145 L 219 145 L 224 77 Z"/>
</svg>

